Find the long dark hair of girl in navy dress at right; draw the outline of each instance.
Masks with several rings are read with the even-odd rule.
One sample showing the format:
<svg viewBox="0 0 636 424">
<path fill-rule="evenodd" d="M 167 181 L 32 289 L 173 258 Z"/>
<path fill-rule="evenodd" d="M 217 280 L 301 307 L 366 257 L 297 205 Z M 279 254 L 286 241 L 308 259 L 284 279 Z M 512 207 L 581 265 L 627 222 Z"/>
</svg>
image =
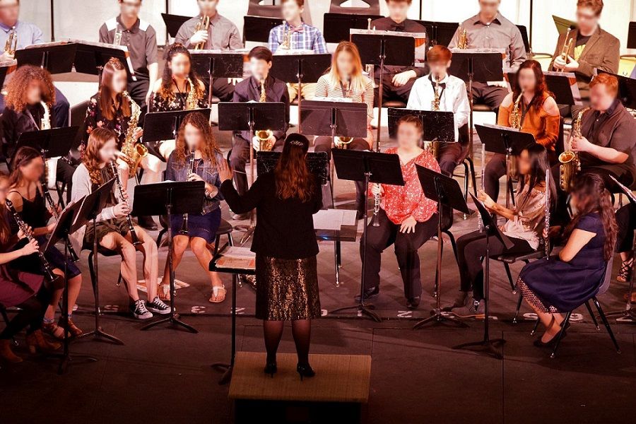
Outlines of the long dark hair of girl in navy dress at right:
<svg viewBox="0 0 636 424">
<path fill-rule="evenodd" d="M 603 247 L 603 258 L 609 261 L 614 254 L 616 246 L 616 233 L 618 225 L 616 224 L 616 214 L 611 201 L 611 195 L 606 189 L 605 182 L 600 175 L 582 174 L 577 177 L 572 194 L 578 199 L 577 214 L 567 225 L 565 234 L 570 237 L 572 231 L 577 228 L 579 220 L 588 213 L 598 213 L 601 216 L 603 231 L 605 232 L 605 246 Z"/>
</svg>

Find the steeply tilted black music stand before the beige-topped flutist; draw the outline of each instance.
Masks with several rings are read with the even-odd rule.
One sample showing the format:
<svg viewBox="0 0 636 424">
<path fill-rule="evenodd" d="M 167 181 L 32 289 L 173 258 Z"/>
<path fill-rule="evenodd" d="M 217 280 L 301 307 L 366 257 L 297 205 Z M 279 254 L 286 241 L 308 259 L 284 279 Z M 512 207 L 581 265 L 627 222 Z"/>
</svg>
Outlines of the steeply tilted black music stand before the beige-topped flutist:
<svg viewBox="0 0 636 424">
<path fill-rule="evenodd" d="M 483 206 L 483 203 L 479 201 L 473 194 L 471 193 L 471 197 L 473 198 L 473 202 L 475 202 L 475 206 L 477 206 L 477 210 L 479 211 L 479 215 L 481 216 L 481 221 L 484 224 L 485 234 L 486 234 L 486 252 L 484 256 L 485 261 L 485 277 L 483 281 L 483 301 L 484 301 L 484 320 L 483 320 L 483 340 L 481 341 L 473 341 L 470 343 L 461 343 L 460 345 L 453 346 L 454 349 L 466 349 L 466 348 L 481 348 L 484 353 L 487 355 L 491 355 L 497 359 L 503 359 L 503 355 L 497 351 L 495 346 L 501 345 L 506 341 L 503 338 L 490 338 L 490 334 L 488 332 L 488 321 L 490 320 L 490 315 L 488 314 L 488 303 L 490 298 L 490 237 L 497 237 L 497 240 L 502 242 L 502 245 L 506 247 L 506 249 L 511 249 L 514 246 L 514 243 L 510 241 L 506 235 L 497 228 L 497 223 L 490 216 L 490 212 L 488 209 Z"/>
</svg>

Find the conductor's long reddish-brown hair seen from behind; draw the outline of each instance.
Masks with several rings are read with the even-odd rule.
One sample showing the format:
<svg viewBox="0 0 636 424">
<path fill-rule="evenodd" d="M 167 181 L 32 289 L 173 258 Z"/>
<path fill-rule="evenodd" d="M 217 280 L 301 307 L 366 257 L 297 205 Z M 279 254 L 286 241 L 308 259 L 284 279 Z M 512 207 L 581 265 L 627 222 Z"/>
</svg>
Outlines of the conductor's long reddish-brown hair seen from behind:
<svg viewBox="0 0 636 424">
<path fill-rule="evenodd" d="M 309 140 L 302 134 L 290 134 L 285 140 L 283 154 L 274 169 L 278 198 L 296 198 L 302 202 L 312 199 L 316 181 L 307 169 L 305 155 L 308 149 Z"/>
</svg>

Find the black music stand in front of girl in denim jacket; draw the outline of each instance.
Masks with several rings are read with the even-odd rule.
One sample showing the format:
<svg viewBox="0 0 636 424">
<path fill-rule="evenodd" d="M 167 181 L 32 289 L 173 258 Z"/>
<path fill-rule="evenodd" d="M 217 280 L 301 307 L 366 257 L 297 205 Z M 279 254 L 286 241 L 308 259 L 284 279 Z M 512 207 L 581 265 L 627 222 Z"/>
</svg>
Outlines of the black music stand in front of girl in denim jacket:
<svg viewBox="0 0 636 424">
<path fill-rule="evenodd" d="M 168 240 L 168 271 L 170 273 L 170 316 L 151 322 L 141 327 L 148 330 L 158 324 L 167 322 L 175 326 L 182 326 L 192 333 L 198 333 L 194 327 L 182 322 L 175 312 L 175 269 L 172 268 L 172 226 L 170 218 L 175 214 L 201 213 L 206 192 L 206 184 L 203 181 L 189 182 L 160 182 L 157 184 L 143 184 L 135 187 L 134 204 L 131 212 L 134 216 L 167 215 L 167 240 Z M 148 281 L 155 284 L 155 281 Z"/>
</svg>

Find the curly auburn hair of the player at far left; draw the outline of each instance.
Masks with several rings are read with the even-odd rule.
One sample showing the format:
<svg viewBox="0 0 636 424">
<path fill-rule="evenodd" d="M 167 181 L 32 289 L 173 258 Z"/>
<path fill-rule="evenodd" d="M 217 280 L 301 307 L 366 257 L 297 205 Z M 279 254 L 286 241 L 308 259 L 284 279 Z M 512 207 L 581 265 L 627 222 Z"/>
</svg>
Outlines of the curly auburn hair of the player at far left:
<svg viewBox="0 0 636 424">
<path fill-rule="evenodd" d="M 40 82 L 42 90 L 42 101 L 47 104 L 49 110 L 55 103 L 55 88 L 51 74 L 46 69 L 39 66 L 24 65 L 13 73 L 13 77 L 6 83 L 6 98 L 4 99 L 6 107 L 16 112 L 22 112 L 27 106 L 27 88 L 33 81 Z"/>
</svg>

